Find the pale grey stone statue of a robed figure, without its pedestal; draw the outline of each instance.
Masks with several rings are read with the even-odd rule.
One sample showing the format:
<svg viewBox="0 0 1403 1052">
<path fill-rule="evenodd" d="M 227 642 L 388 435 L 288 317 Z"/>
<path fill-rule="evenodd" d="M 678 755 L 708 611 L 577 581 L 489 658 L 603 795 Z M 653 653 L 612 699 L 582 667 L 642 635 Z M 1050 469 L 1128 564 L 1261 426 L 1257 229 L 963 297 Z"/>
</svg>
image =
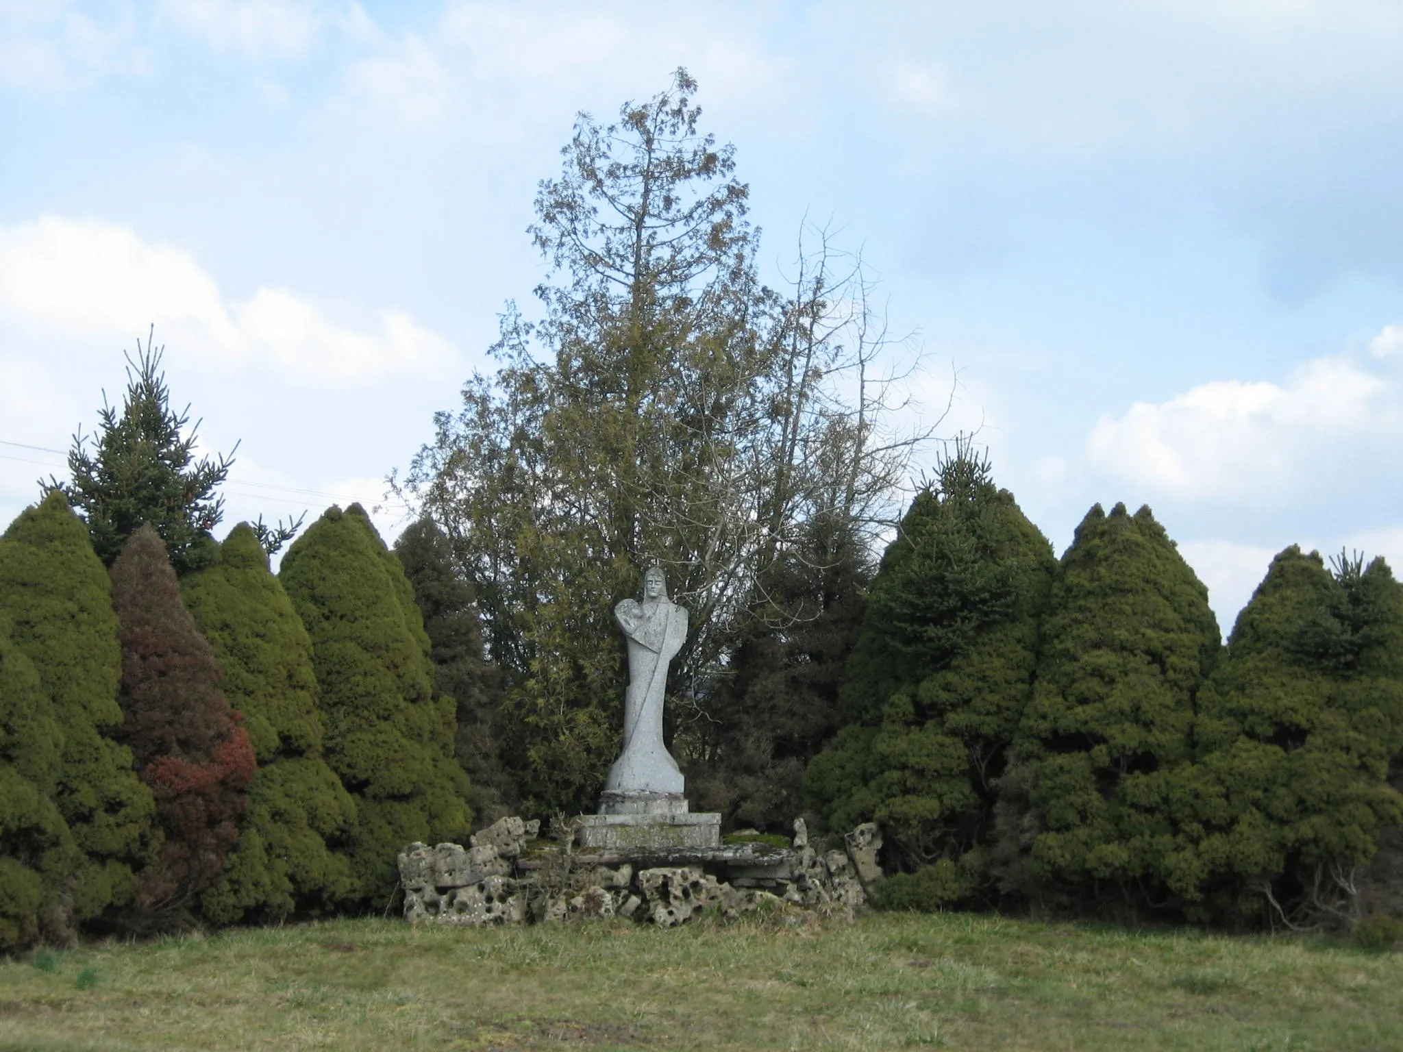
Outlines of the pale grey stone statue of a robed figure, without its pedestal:
<svg viewBox="0 0 1403 1052">
<path fill-rule="evenodd" d="M 615 607 L 615 619 L 629 637 L 629 690 L 623 752 L 609 769 L 606 798 L 680 794 L 682 771 L 662 743 L 662 693 L 668 665 L 687 638 L 687 612 L 668 599 L 662 567 L 648 567 L 643 602 L 624 599 Z"/>
</svg>

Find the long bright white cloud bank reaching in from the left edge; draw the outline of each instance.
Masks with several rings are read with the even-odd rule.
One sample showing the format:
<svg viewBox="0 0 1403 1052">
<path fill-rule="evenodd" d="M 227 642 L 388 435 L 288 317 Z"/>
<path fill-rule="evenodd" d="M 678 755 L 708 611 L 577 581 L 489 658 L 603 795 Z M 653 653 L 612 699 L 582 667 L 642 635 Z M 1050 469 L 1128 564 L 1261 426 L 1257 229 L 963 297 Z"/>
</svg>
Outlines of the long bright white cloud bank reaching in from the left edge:
<svg viewBox="0 0 1403 1052">
<path fill-rule="evenodd" d="M 126 344 L 156 324 L 194 359 L 272 365 L 316 384 L 362 384 L 443 362 L 453 349 L 407 314 L 338 324 L 286 289 L 229 302 L 181 248 L 143 241 L 129 227 L 45 216 L 0 227 L 0 324 L 51 337 Z"/>
</svg>

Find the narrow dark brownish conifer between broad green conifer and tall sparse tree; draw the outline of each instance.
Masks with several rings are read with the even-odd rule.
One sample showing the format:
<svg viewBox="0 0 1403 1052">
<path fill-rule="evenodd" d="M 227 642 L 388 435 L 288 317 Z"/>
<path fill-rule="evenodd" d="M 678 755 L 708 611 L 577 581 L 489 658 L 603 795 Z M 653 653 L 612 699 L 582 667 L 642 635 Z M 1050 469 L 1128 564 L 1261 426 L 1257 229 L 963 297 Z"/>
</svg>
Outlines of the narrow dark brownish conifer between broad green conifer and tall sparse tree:
<svg viewBox="0 0 1403 1052">
<path fill-rule="evenodd" d="M 455 753 L 471 783 L 469 802 L 478 825 L 515 814 L 518 794 L 502 767 L 501 675 L 483 651 L 473 585 L 453 561 L 448 534 L 418 519 L 394 541 L 394 554 L 414 585 L 434 661 L 434 689 L 457 706 Z"/>
</svg>

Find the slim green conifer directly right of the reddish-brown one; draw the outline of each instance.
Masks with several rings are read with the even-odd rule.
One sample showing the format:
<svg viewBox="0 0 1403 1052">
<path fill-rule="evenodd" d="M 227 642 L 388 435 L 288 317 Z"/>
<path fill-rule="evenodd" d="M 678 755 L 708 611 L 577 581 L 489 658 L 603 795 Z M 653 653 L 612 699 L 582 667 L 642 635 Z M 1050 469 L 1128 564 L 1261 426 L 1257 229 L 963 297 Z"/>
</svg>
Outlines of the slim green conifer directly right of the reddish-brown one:
<svg viewBox="0 0 1403 1052">
<path fill-rule="evenodd" d="M 258 770 L 239 846 L 201 909 L 231 923 L 331 908 L 355 885 L 338 850 L 355 804 L 323 756 L 311 640 L 251 526 L 236 526 L 213 554 L 182 578 L 181 595 L 215 649 Z"/>
</svg>

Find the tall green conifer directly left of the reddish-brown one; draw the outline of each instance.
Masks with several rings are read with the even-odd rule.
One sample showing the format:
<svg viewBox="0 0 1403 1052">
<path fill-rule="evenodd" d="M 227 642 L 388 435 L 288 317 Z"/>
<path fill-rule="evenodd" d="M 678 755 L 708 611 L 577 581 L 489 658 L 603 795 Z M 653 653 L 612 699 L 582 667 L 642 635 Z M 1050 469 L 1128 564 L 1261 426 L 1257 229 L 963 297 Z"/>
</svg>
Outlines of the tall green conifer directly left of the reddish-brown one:
<svg viewBox="0 0 1403 1052">
<path fill-rule="evenodd" d="M 132 868 L 153 835 L 152 791 L 115 741 L 122 652 L 111 579 L 60 494 L 27 508 L 0 539 L 0 610 L 34 663 L 63 734 L 53 802 L 83 851 L 79 920 L 132 898 Z"/>
</svg>

